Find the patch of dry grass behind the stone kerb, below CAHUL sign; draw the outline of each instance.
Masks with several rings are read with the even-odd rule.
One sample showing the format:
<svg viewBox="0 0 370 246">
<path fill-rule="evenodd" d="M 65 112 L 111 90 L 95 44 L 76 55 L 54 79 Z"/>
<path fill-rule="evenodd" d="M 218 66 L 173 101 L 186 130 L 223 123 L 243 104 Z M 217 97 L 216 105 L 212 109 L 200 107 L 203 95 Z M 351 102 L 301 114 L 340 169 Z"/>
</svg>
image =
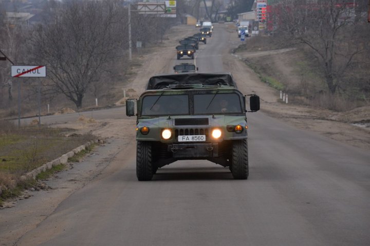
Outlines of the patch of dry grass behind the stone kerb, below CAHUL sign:
<svg viewBox="0 0 370 246">
<path fill-rule="evenodd" d="M 45 126 L 18 128 L 9 121 L 0 121 L 0 186 L 3 191 L 0 202 L 1 198 L 13 196 L 28 185 L 20 181 L 25 173 L 95 139 L 89 134 L 66 137 L 69 132 L 69 129 Z"/>
</svg>

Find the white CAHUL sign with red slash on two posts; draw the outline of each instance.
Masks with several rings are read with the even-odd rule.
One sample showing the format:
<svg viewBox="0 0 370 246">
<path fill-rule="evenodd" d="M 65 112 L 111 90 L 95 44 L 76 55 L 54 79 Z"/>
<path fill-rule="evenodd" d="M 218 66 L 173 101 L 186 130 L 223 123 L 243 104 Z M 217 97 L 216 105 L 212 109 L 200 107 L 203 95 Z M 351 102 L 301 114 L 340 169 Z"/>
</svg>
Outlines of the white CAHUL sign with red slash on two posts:
<svg viewBox="0 0 370 246">
<path fill-rule="evenodd" d="M 11 66 L 11 77 L 46 77 L 45 66 Z M 18 83 L 18 126 L 21 124 L 21 82 Z M 39 126 L 41 126 L 41 81 L 38 88 Z"/>
</svg>

